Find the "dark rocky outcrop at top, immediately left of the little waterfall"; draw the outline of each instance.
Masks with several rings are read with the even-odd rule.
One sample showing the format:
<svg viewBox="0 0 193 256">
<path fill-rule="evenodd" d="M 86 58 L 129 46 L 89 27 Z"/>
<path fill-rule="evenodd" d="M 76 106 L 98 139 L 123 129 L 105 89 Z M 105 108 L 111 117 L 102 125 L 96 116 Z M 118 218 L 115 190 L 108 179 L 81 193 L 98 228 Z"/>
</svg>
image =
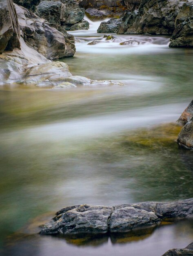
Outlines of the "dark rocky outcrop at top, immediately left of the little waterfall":
<svg viewBox="0 0 193 256">
<path fill-rule="evenodd" d="M 60 26 L 67 30 L 79 29 L 79 27 L 84 29 L 82 23 L 85 14 L 84 8 L 80 7 L 75 0 L 43 0 L 37 6 L 37 14 L 41 18 L 48 20 L 59 30 Z M 81 24 L 79 24 L 79 22 L 81 22 Z M 85 23 L 86 22 L 84 22 L 84 25 Z M 87 26 L 88 25 L 87 23 Z"/>
</svg>

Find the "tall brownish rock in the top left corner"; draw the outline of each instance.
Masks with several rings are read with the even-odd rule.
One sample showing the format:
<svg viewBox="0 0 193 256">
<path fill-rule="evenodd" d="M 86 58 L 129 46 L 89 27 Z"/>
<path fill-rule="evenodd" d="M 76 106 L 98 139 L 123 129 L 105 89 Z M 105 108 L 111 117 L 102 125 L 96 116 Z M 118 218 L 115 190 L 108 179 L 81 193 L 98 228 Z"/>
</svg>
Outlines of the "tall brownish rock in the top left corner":
<svg viewBox="0 0 193 256">
<path fill-rule="evenodd" d="M 0 1 L 0 53 L 20 48 L 20 28 L 11 0 Z"/>
</svg>

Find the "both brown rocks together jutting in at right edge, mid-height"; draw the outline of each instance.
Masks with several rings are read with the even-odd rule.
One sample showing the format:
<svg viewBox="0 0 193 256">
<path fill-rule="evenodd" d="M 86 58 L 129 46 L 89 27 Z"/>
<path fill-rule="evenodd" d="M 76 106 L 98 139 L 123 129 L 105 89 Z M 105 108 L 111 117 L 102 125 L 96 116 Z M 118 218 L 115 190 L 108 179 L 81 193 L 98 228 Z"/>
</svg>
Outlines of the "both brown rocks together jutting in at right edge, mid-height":
<svg viewBox="0 0 193 256">
<path fill-rule="evenodd" d="M 193 149 L 193 101 L 184 110 L 177 122 L 184 125 L 177 137 L 177 143 L 184 148 Z"/>
</svg>

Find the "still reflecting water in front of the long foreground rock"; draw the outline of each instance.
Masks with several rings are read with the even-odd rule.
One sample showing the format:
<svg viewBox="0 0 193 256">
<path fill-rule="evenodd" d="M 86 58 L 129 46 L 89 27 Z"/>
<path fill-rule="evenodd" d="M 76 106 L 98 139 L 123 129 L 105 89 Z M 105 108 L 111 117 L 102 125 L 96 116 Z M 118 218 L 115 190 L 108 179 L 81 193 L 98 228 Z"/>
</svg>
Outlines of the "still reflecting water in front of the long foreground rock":
<svg viewBox="0 0 193 256">
<path fill-rule="evenodd" d="M 161 256 L 171 247 L 185 247 L 192 240 L 193 220 L 189 219 L 135 233 L 100 236 L 40 236 L 18 233 L 8 239 L 4 255 Z"/>
</svg>

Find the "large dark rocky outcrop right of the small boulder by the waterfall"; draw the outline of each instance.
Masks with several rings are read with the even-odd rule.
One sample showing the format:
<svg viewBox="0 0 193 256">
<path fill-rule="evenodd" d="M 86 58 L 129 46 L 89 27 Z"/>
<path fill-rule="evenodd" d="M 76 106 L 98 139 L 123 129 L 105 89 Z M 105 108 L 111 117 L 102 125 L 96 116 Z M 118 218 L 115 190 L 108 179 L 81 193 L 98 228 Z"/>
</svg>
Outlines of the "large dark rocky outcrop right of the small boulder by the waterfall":
<svg viewBox="0 0 193 256">
<path fill-rule="evenodd" d="M 189 0 L 191 2 L 191 0 Z M 186 0 L 142 0 L 138 11 L 127 12 L 119 34 L 172 34 Z"/>
</svg>

